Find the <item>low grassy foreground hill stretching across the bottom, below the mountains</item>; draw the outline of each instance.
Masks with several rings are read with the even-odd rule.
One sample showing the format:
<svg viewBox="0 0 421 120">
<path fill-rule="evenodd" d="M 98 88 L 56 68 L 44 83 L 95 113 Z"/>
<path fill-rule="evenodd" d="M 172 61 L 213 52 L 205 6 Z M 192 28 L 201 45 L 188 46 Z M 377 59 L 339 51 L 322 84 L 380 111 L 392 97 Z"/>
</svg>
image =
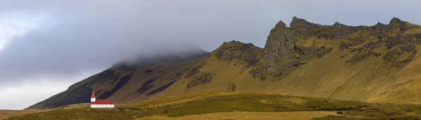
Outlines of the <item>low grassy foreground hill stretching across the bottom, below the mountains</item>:
<svg viewBox="0 0 421 120">
<path fill-rule="evenodd" d="M 194 114 L 204 115 L 203 118 L 205 118 L 206 114 L 236 114 L 239 112 L 290 112 L 290 114 L 302 114 L 300 115 L 302 119 L 309 119 L 305 118 L 306 112 L 309 115 L 313 112 L 327 113 L 326 116 L 314 116 L 313 119 L 421 119 L 421 105 L 363 103 L 253 92 L 194 93 L 117 107 L 119 108 L 58 109 L 25 114 L 10 119 L 136 119 L 142 117 L 156 119 L 190 117 L 189 115 Z M 332 112 L 336 114 L 332 114 Z M 264 118 L 265 114 L 261 114 L 260 117 Z"/>
</svg>

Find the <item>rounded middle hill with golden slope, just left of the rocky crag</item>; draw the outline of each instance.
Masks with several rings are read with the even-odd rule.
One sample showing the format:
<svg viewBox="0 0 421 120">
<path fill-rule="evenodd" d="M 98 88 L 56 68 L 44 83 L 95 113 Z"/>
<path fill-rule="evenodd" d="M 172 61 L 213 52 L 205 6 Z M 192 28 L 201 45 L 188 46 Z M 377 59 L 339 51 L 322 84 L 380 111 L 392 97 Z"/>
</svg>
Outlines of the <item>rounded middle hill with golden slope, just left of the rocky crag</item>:
<svg viewBox="0 0 421 120">
<path fill-rule="evenodd" d="M 258 62 L 261 50 L 251 43 L 245 44 L 235 40 L 223 43 L 211 52 L 207 59 L 187 71 L 180 81 L 152 98 L 199 91 L 234 91 L 238 88 L 235 80 L 241 74 L 248 74 L 246 70 Z"/>
</svg>

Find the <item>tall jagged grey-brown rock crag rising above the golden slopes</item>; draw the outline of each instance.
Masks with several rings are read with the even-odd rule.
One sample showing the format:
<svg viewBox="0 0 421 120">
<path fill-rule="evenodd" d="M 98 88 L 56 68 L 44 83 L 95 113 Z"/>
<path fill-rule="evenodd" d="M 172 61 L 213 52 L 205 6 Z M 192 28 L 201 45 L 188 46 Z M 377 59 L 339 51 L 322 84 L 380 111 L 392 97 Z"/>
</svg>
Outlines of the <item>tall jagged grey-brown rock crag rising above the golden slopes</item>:
<svg viewBox="0 0 421 120">
<path fill-rule="evenodd" d="M 332 48 L 329 47 L 299 46 L 296 43 L 298 36 L 314 36 L 314 33 L 311 33 L 312 29 L 319 27 L 322 26 L 297 17 L 293 17 L 290 28 L 279 21 L 267 37 L 260 63 L 257 63 L 250 73 L 262 81 L 279 80 L 314 57 L 322 57 L 330 52 Z"/>
</svg>

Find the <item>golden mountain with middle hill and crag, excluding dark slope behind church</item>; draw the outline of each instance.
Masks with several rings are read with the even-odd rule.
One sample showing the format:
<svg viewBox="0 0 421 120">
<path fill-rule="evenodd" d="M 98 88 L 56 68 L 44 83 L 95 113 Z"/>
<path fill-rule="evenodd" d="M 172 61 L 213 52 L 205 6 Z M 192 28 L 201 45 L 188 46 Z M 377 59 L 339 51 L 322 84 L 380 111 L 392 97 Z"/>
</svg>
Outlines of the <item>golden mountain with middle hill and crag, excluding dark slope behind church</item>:
<svg viewBox="0 0 421 120">
<path fill-rule="evenodd" d="M 239 61 L 241 52 L 235 51 L 248 44 L 224 43 L 195 67 L 192 76 L 196 77 L 185 74 L 153 98 L 230 89 L 420 103 L 420 44 L 421 27 L 398 18 L 389 24 L 351 27 L 338 22 L 314 24 L 293 17 L 290 27 L 282 21 L 276 24 L 265 48 L 256 48 L 252 60 L 240 58 L 251 62 L 229 61 Z"/>
</svg>

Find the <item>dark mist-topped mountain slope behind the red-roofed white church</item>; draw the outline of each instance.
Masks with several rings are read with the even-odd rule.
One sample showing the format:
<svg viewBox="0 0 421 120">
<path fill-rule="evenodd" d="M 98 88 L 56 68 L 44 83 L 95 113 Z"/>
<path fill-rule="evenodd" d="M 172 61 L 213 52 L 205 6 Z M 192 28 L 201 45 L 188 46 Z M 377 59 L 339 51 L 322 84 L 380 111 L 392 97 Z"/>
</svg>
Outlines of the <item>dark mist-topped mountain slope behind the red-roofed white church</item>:
<svg viewBox="0 0 421 120">
<path fill-rule="evenodd" d="M 95 90 L 98 99 L 109 99 L 117 104 L 147 100 L 179 80 L 182 73 L 199 63 L 207 54 L 208 52 L 197 50 L 189 51 L 187 55 L 169 54 L 142 57 L 134 62 L 122 61 L 26 109 L 51 109 L 76 103 L 91 103 L 88 98 L 91 97 L 92 90 Z"/>
</svg>

